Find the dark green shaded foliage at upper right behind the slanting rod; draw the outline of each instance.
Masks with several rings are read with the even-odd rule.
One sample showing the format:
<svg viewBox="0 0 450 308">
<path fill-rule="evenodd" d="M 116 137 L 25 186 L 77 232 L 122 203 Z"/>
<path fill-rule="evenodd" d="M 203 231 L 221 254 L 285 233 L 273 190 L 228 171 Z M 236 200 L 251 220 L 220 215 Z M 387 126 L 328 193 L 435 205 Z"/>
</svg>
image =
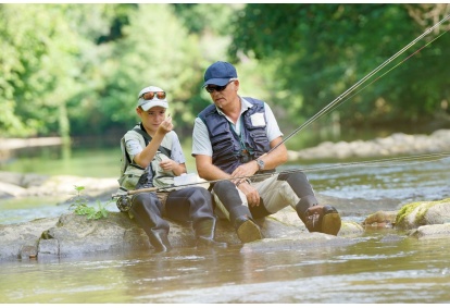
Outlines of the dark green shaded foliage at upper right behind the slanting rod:
<svg viewBox="0 0 450 308">
<path fill-rule="evenodd" d="M 292 120 L 299 114 L 309 119 L 425 30 L 407 9 L 389 4 L 248 4 L 234 23 L 229 52 L 253 54 L 264 62 L 279 60 L 274 73 L 280 79 L 276 89 L 304 100 L 293 108 L 289 101 L 280 103 L 290 109 Z M 435 41 L 383 81 L 353 93 L 339 109 L 341 119 L 353 124 L 376 123 L 437 112 L 442 100 L 449 101 L 445 77 L 449 69 L 440 64 L 448 53 L 447 41 Z"/>
</svg>

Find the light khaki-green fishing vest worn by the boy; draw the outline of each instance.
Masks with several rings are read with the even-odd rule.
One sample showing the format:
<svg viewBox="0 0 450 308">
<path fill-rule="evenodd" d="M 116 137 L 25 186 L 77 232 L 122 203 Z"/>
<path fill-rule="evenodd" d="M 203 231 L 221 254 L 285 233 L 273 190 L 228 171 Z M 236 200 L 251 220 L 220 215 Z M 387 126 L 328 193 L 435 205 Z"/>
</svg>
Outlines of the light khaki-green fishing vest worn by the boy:
<svg viewBox="0 0 450 308">
<path fill-rule="evenodd" d="M 134 135 L 139 139 L 139 144 L 142 147 L 151 141 L 151 136 L 147 134 L 141 124 L 136 125 L 132 131 L 128 131 L 126 135 Z M 121 163 L 121 177 L 117 180 L 121 188 L 126 190 L 132 190 L 138 188 L 138 186 L 148 184 L 149 170 L 153 174 L 152 186 L 154 187 L 167 187 L 174 184 L 174 173 L 172 171 L 164 171 L 160 167 L 160 162 L 164 159 L 171 158 L 172 152 L 172 135 L 167 134 L 163 138 L 160 147 L 158 148 L 157 153 L 154 155 L 153 160 L 150 165 L 141 168 L 130 160 L 128 152 L 126 151 L 125 136 L 121 139 L 121 150 L 122 150 L 122 163 Z M 120 189 L 121 189 L 120 188 Z"/>
</svg>

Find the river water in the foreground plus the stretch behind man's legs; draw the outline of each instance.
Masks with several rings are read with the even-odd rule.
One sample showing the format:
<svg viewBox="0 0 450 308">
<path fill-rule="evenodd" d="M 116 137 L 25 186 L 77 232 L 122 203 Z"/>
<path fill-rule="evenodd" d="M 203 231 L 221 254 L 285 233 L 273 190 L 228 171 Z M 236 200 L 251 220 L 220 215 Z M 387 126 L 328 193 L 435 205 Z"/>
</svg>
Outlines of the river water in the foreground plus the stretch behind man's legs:
<svg viewBox="0 0 450 308">
<path fill-rule="evenodd" d="M 450 160 L 309 172 L 321 198 L 343 220 L 450 197 Z M 289 169 L 302 165 L 289 165 Z M 41 205 L 46 215 L 59 214 Z M 0 205 L 2 215 L 13 209 Z M 37 217 L 36 209 L 15 213 Z M 252 243 L 253 244 L 253 243 Z M 2 304 L 448 304 L 449 239 L 417 239 L 391 229 L 366 230 L 343 246 L 264 245 L 168 254 L 129 251 L 0 264 Z"/>
</svg>

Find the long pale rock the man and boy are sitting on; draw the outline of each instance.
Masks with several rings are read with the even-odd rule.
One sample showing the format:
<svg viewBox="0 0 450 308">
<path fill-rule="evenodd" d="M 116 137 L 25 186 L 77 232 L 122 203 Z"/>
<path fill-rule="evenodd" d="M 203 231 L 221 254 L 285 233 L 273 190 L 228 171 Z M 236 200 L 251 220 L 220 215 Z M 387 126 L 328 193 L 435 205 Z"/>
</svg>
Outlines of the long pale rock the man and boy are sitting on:
<svg viewBox="0 0 450 308">
<path fill-rule="evenodd" d="M 285 238 L 309 241 L 310 234 L 293 209 L 286 208 L 276 214 L 259 220 L 264 241 Z M 173 247 L 191 247 L 195 234 L 190 225 L 170 221 L 168 238 Z M 363 229 L 351 222 L 342 223 L 341 237 L 362 234 Z M 320 234 L 322 241 L 336 241 L 337 236 Z M 152 249 L 143 230 L 126 213 L 110 212 L 108 218 L 88 220 L 85 215 L 63 214 L 55 219 L 35 220 L 28 223 L 0 225 L 0 260 L 27 258 L 59 258 L 103 252 L 125 252 Z M 230 245 L 240 244 L 229 222 L 217 222 L 215 238 Z"/>
</svg>

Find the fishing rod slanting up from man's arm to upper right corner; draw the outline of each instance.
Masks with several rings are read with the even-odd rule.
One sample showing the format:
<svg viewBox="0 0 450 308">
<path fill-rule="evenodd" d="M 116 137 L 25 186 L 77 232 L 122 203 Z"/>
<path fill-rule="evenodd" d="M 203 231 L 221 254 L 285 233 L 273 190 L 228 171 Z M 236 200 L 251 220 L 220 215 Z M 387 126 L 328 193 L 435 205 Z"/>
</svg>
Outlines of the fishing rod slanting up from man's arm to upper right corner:
<svg viewBox="0 0 450 308">
<path fill-rule="evenodd" d="M 326 114 L 328 111 L 330 111 L 333 108 L 337 108 L 338 103 L 342 103 L 342 99 L 346 98 L 349 94 L 351 94 L 354 89 L 357 89 L 358 87 L 360 87 L 362 84 L 364 84 L 367 79 L 372 78 L 376 73 L 378 73 L 380 70 L 383 70 L 385 66 L 387 66 L 390 62 L 392 62 L 395 59 L 397 59 L 400 54 L 402 54 L 403 52 L 405 52 L 408 49 L 410 49 L 412 46 L 414 46 L 417 41 L 420 41 L 422 38 L 424 38 L 425 36 L 427 36 L 429 33 L 432 33 L 435 28 L 437 28 L 438 26 L 440 26 L 442 23 L 447 22 L 448 20 L 450 20 L 450 14 L 445 16 L 440 22 L 438 22 L 437 24 L 435 24 L 434 26 L 432 26 L 430 28 L 428 28 L 426 32 L 424 32 L 422 35 L 420 35 L 418 37 L 416 37 L 415 39 L 413 39 L 410 44 L 408 44 L 405 47 L 403 47 L 401 50 L 399 50 L 396 54 L 393 54 L 392 57 L 390 57 L 388 60 L 386 60 L 384 63 L 382 63 L 378 67 L 376 67 L 375 70 L 373 70 L 371 73 L 368 73 L 367 75 L 365 75 L 363 78 L 361 78 L 358 83 L 355 83 L 354 85 L 352 85 L 350 88 L 348 88 L 346 91 L 343 91 L 340 96 L 338 96 L 336 99 L 334 99 L 332 102 L 329 102 L 327 106 L 325 106 L 321 111 L 318 111 L 316 114 L 314 114 L 312 118 L 310 118 L 307 122 L 304 122 L 302 125 L 300 125 L 299 127 L 297 127 L 292 133 L 290 133 L 286 138 L 284 138 L 279 144 L 277 144 L 275 147 L 273 147 L 272 149 L 270 149 L 264 155 L 268 155 L 270 152 L 272 152 L 273 150 L 275 150 L 277 147 L 279 147 L 280 145 L 285 144 L 288 139 L 290 139 L 293 135 L 296 135 L 298 132 L 300 132 L 301 130 L 303 130 L 304 127 L 307 127 L 308 125 L 310 125 L 311 123 L 313 123 L 314 121 L 316 121 L 320 116 Z M 445 33 L 447 33 L 448 30 L 445 30 L 441 35 L 443 35 Z M 440 37 L 441 35 L 439 35 L 438 37 Z M 437 39 L 437 38 L 435 38 Z M 434 39 L 434 40 L 435 40 Z M 432 40 L 430 42 L 433 42 L 434 40 Z M 424 47 L 428 46 L 430 42 L 426 44 Z M 403 63 L 405 60 L 410 59 L 412 56 L 414 56 L 415 53 L 417 53 L 420 50 L 422 50 L 424 47 L 422 47 L 421 49 L 418 49 L 416 52 L 414 52 L 413 54 L 411 54 L 410 57 L 408 57 L 407 59 L 404 59 L 402 62 L 400 62 L 399 64 L 397 64 L 395 67 L 399 66 L 401 63 Z M 389 70 L 388 72 L 386 72 L 385 74 L 383 74 L 380 77 L 385 76 L 387 73 L 389 73 L 390 71 L 392 71 L 395 67 L 392 67 L 391 70 Z M 375 81 L 373 81 L 371 84 L 373 84 L 374 82 L 378 81 L 380 77 L 376 78 Z M 368 85 L 367 85 L 368 86 Z M 365 88 L 365 87 L 364 87 Z M 364 89 L 363 88 L 363 89 Z M 361 91 L 361 90 L 360 90 Z M 360 93 L 358 91 L 358 93 Z M 357 94 L 358 94 L 357 93 Z"/>
</svg>

